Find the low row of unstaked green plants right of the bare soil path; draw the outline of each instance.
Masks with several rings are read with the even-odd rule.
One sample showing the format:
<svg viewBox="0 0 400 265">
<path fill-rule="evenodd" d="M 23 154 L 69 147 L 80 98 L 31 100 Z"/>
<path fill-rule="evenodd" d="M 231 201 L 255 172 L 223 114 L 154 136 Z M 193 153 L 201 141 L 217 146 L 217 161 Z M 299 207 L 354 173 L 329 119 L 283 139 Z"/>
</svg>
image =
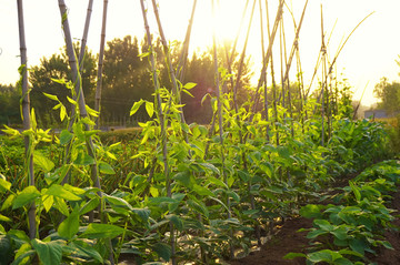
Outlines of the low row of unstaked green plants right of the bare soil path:
<svg viewBox="0 0 400 265">
<path fill-rule="evenodd" d="M 310 264 L 363 264 L 368 262 L 366 252 L 376 254 L 373 248 L 378 246 L 392 249 L 381 236 L 394 218 L 384 203 L 399 182 L 397 161 L 386 161 L 364 170 L 356 182 L 350 181 L 342 193 L 333 196 L 337 205 L 301 207 L 303 217 L 314 218 L 307 235 L 313 247 L 307 255 L 291 253 L 286 257 L 304 256 Z"/>
</svg>

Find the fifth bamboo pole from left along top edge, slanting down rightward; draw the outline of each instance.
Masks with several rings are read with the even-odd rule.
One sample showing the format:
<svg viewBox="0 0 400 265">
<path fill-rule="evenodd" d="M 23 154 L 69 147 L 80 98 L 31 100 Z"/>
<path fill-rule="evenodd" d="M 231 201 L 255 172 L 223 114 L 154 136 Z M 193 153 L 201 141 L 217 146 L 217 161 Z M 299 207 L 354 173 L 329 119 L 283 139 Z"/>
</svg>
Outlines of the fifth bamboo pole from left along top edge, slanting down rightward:
<svg viewBox="0 0 400 265">
<path fill-rule="evenodd" d="M 156 69 L 154 55 L 153 55 L 153 50 L 152 50 L 150 27 L 149 27 L 149 22 L 148 22 L 148 19 L 147 19 L 147 9 L 144 8 L 143 0 L 140 0 L 140 6 L 141 6 L 141 10 L 142 10 L 142 17 L 143 17 L 143 22 L 144 22 L 147 41 L 148 41 L 149 51 L 150 51 L 149 59 L 150 59 L 152 79 L 153 79 L 153 84 L 154 84 L 156 101 L 157 101 L 157 104 L 158 104 L 157 110 L 158 110 L 158 115 L 159 115 L 159 120 L 160 120 L 160 128 L 161 128 L 162 162 L 163 162 L 163 166 L 164 166 L 164 176 L 166 176 L 166 183 L 167 183 L 167 196 L 171 197 L 172 196 L 172 193 L 171 193 L 171 180 L 170 180 L 170 175 L 169 175 L 168 150 L 167 150 L 167 141 L 168 141 L 168 139 L 167 139 L 167 130 L 166 130 L 166 119 L 164 119 L 164 114 L 163 114 L 163 111 L 162 111 L 162 104 L 161 104 L 162 101 L 161 101 L 161 96 L 160 96 L 160 84 L 159 84 L 159 78 L 158 78 L 158 73 L 157 73 L 157 69 Z M 170 222 L 170 244 L 171 244 L 172 264 L 176 265 L 177 264 L 177 257 L 176 257 L 174 228 L 173 228 L 173 224 L 171 222 Z"/>
</svg>

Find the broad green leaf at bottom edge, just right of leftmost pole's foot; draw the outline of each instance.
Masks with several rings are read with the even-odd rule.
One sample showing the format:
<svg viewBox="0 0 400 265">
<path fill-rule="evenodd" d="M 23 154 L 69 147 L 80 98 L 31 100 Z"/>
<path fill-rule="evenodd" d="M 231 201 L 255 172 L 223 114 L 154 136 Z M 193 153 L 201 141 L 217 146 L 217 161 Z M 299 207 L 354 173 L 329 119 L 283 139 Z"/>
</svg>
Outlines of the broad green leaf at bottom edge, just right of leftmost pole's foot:
<svg viewBox="0 0 400 265">
<path fill-rule="evenodd" d="M 62 247 L 60 242 L 42 242 L 40 239 L 32 239 L 32 246 L 39 255 L 39 259 L 43 265 L 61 264 Z"/>
</svg>

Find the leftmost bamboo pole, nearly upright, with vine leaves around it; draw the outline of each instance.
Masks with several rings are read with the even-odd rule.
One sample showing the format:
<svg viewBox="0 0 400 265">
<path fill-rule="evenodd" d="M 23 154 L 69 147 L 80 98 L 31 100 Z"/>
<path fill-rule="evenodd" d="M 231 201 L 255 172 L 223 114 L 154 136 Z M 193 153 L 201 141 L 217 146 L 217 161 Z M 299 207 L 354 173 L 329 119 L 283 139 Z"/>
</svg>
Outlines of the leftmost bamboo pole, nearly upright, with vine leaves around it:
<svg viewBox="0 0 400 265">
<path fill-rule="evenodd" d="M 23 22 L 23 3 L 22 0 L 17 0 L 18 8 L 18 27 L 19 27 L 19 39 L 20 39 L 20 54 L 21 54 L 21 88 L 22 88 L 22 118 L 23 118 L 23 130 L 31 129 L 30 118 L 30 99 L 28 91 L 28 59 L 27 59 L 27 44 L 24 35 L 24 22 Z M 29 185 L 34 186 L 34 172 L 33 172 L 33 150 L 31 149 L 31 136 L 24 136 L 24 149 L 26 149 L 26 161 L 28 165 Z M 29 237 L 36 238 L 37 235 L 37 222 L 36 222 L 36 204 L 34 202 L 30 205 L 28 211 L 29 222 Z"/>
</svg>

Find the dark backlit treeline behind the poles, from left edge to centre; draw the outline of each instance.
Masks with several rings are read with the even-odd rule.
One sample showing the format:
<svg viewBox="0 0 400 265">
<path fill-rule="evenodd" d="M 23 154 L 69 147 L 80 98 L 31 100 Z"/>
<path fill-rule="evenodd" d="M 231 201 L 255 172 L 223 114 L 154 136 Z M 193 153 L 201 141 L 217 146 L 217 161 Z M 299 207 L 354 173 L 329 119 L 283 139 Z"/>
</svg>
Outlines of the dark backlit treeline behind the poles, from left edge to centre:
<svg viewBox="0 0 400 265">
<path fill-rule="evenodd" d="M 79 55 L 79 43 L 76 44 L 76 52 Z M 138 121 L 148 120 L 146 110 L 140 110 L 133 118 L 129 111 L 133 103 L 143 99 L 152 100 L 153 84 L 146 53 L 149 51 L 144 39 L 139 42 L 137 37 L 127 35 L 123 39 L 113 39 L 107 43 L 103 61 L 102 98 L 101 98 L 101 124 L 112 125 L 136 125 Z M 154 40 L 153 52 L 157 58 L 158 70 L 160 71 L 161 85 L 170 89 L 168 69 L 164 63 L 162 45 L 159 39 Z M 180 43 L 170 44 L 171 58 L 174 67 L 180 58 Z M 224 58 L 221 49 L 220 58 Z M 221 59 L 222 60 L 222 59 Z M 234 57 L 232 71 L 238 67 L 239 57 Z M 94 105 L 94 91 L 97 85 L 97 62 L 98 54 L 87 50 L 81 69 L 82 88 L 87 104 Z M 223 63 L 223 62 L 221 62 Z M 247 96 L 250 84 L 251 71 L 247 60 L 243 75 L 240 82 L 240 96 Z M 42 58 L 39 65 L 30 67 L 30 101 L 34 108 L 38 122 L 44 128 L 59 126 L 59 112 L 51 111 L 54 101 L 48 99 L 43 93 L 54 94 L 59 100 L 69 106 L 68 98 L 71 91 L 68 85 L 58 80 L 71 80 L 68 57 L 63 50 L 52 54 L 50 58 Z M 211 119 L 209 101 L 202 103 L 207 95 L 214 95 L 214 70 L 211 50 L 197 51 L 187 61 L 184 71 L 180 78 L 182 83 L 193 82 L 197 86 L 191 90 L 192 96 L 182 95 L 183 111 L 188 122 L 208 123 Z M 230 85 L 227 82 L 226 89 Z M 0 84 L 0 124 L 16 125 L 21 123 L 19 114 L 20 92 L 18 84 Z"/>
</svg>

